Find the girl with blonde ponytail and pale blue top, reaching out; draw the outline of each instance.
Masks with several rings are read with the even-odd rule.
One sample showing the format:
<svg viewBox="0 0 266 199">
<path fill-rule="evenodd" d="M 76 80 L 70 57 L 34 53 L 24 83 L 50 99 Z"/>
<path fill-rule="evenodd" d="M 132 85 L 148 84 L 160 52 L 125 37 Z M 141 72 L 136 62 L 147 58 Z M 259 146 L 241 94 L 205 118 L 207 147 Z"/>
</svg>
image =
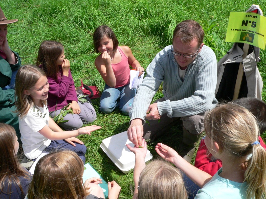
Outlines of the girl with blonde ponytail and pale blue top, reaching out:
<svg viewBox="0 0 266 199">
<path fill-rule="evenodd" d="M 265 198 L 266 151 L 258 141 L 259 128 L 252 113 L 227 103 L 211 110 L 203 122 L 205 144 L 223 165 L 213 177 L 166 145 L 158 143 L 156 152 L 201 187 L 197 199 Z"/>
</svg>

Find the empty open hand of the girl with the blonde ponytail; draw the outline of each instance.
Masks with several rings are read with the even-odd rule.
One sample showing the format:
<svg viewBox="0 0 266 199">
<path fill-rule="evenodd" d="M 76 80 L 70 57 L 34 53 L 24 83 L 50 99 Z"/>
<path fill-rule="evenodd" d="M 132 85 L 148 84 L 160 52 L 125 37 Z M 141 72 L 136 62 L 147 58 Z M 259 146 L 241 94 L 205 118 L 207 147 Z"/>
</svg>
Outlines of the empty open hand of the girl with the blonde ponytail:
<svg viewBox="0 0 266 199">
<path fill-rule="evenodd" d="M 163 159 L 171 163 L 174 163 L 179 156 L 174 149 L 162 143 L 158 143 L 155 146 L 155 150 Z"/>
</svg>

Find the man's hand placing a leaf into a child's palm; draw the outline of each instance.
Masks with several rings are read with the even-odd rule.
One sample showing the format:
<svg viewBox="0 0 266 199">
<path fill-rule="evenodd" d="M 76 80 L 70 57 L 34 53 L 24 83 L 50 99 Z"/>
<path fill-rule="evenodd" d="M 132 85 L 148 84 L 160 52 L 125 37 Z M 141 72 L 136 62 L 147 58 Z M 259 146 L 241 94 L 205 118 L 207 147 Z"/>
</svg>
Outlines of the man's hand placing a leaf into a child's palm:
<svg viewBox="0 0 266 199">
<path fill-rule="evenodd" d="M 130 126 L 127 129 L 127 137 L 136 147 L 141 146 L 143 136 L 143 126 L 141 119 L 131 120 Z"/>
</svg>

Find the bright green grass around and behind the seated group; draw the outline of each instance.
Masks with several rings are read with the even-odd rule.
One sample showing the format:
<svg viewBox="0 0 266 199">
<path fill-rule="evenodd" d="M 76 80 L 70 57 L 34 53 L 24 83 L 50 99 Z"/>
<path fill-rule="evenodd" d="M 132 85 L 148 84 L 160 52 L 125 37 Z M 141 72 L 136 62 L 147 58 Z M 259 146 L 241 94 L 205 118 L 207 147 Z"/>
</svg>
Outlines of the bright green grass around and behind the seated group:
<svg viewBox="0 0 266 199">
<path fill-rule="evenodd" d="M 265 1 L 252 1 L 263 11 Z M 229 50 L 232 43 L 225 42 L 226 28 L 231 11 L 244 12 L 250 1 L 236 0 L 5 0 L 0 2 L 8 19 L 19 19 L 9 25 L 10 48 L 19 52 L 22 64 L 36 62 L 39 45 L 44 40 L 60 41 L 70 60 L 76 86 L 80 80 L 87 85 L 96 85 L 103 90 L 104 82 L 94 66 L 98 56 L 93 51 L 92 34 L 99 25 L 108 25 L 115 32 L 120 45 L 127 45 L 146 68 L 159 50 L 171 44 L 174 27 L 185 19 L 198 21 L 205 30 L 204 42 L 215 52 L 217 60 Z M 266 53 L 261 50 L 259 71 L 266 81 Z M 162 96 L 161 88 L 154 98 Z M 263 99 L 266 100 L 265 86 Z M 88 147 L 86 161 L 90 162 L 105 180 L 116 180 L 122 187 L 120 198 L 131 198 L 130 185 L 133 173 L 123 174 L 99 148 L 101 141 L 109 136 L 126 131 L 128 116 L 115 111 L 104 115 L 98 110 L 99 100 L 93 100 L 97 120 L 93 124 L 102 126 L 91 136 L 80 136 Z M 173 127 L 167 139 L 160 142 L 175 147 L 181 139 L 181 128 Z M 264 139 L 266 135 L 262 136 Z M 148 146 L 156 157 L 155 143 Z"/>
</svg>

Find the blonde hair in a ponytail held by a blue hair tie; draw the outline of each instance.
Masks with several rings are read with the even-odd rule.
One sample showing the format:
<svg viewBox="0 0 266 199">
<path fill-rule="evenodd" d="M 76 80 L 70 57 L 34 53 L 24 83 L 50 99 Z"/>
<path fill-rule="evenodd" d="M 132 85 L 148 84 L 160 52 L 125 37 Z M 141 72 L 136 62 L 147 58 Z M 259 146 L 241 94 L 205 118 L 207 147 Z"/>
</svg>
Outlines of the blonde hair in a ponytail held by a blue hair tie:
<svg viewBox="0 0 266 199">
<path fill-rule="evenodd" d="M 215 157 L 224 155 L 246 158 L 244 173 L 248 183 L 247 198 L 265 198 L 266 151 L 257 143 L 259 128 L 255 117 L 246 108 L 227 103 L 211 110 L 204 118 L 206 135 L 219 145 Z"/>
</svg>

